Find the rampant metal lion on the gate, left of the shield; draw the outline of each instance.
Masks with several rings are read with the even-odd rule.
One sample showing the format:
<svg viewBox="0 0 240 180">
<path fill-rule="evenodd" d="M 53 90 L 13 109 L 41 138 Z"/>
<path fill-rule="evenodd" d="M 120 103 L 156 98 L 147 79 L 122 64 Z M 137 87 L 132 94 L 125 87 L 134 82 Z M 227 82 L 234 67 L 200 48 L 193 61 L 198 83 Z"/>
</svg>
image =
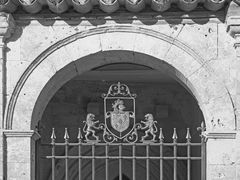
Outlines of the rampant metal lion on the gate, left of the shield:
<svg viewBox="0 0 240 180">
<path fill-rule="evenodd" d="M 85 123 L 83 132 L 86 133 L 85 134 L 86 141 L 91 141 L 91 139 L 89 139 L 89 136 L 91 134 L 94 140 L 99 140 L 99 137 L 96 136 L 95 134 L 95 129 L 99 129 L 99 127 L 96 126 L 96 124 L 99 123 L 99 121 L 95 121 L 95 115 L 92 113 L 88 113 L 86 117 L 86 121 L 83 121 L 83 122 Z"/>
</svg>

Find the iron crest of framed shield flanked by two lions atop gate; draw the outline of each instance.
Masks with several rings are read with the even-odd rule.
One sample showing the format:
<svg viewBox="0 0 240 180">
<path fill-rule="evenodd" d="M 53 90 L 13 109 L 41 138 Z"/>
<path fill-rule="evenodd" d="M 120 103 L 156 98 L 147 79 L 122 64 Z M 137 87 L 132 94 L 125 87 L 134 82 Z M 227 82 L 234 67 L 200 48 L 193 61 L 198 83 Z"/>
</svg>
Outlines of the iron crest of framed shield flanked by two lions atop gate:
<svg viewBox="0 0 240 180">
<path fill-rule="evenodd" d="M 103 141 L 128 142 L 138 141 L 138 130 L 144 130 L 145 135 L 141 142 L 154 142 L 156 139 L 157 121 L 154 121 L 152 114 L 145 115 L 145 121 L 136 123 L 135 118 L 135 98 L 136 94 L 131 94 L 127 85 L 113 84 L 109 87 L 108 93 L 102 95 L 104 99 L 104 123 L 95 120 L 95 115 L 89 113 L 84 121 L 85 141 L 98 142 L 99 136 L 95 130 L 103 131 Z"/>
</svg>

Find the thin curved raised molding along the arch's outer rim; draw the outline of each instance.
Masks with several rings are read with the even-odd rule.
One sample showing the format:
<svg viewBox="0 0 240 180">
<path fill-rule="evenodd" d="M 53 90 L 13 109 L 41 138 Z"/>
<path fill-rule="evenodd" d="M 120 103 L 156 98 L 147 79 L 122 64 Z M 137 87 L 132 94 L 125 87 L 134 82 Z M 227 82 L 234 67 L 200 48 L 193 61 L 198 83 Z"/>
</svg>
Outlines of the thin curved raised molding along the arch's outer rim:
<svg viewBox="0 0 240 180">
<path fill-rule="evenodd" d="M 70 44 L 74 41 L 77 41 L 78 39 L 86 38 L 89 36 L 97 35 L 97 34 L 104 34 L 104 33 L 115 33 L 115 32 L 124 32 L 124 33 L 137 33 L 137 34 L 143 34 L 150 37 L 154 37 L 156 39 L 163 40 L 167 43 L 170 43 L 172 45 L 177 46 L 190 56 L 192 56 L 199 64 L 204 64 L 204 59 L 191 47 L 188 45 L 182 43 L 181 41 L 174 39 L 170 36 L 167 36 L 165 34 L 162 34 L 160 32 L 146 29 L 146 28 L 140 28 L 135 26 L 126 26 L 126 25 L 119 25 L 119 26 L 103 26 L 103 27 L 97 27 L 92 28 L 89 30 L 82 31 L 80 33 L 74 34 L 72 36 L 69 36 L 63 40 L 58 41 L 57 43 L 50 46 L 48 49 L 43 51 L 25 70 L 25 72 L 20 77 L 19 81 L 17 82 L 17 85 L 15 86 L 13 93 L 11 95 L 11 98 L 9 100 L 6 116 L 4 119 L 4 127 L 5 129 L 11 129 L 12 123 L 13 123 L 13 114 L 15 110 L 15 105 L 17 103 L 19 94 L 31 75 L 31 73 L 38 67 L 39 64 L 41 64 L 50 54 L 58 50 L 59 48 L 66 46 L 67 44 Z M 204 65 L 204 68 L 208 73 L 212 73 L 213 70 L 210 66 Z"/>
</svg>

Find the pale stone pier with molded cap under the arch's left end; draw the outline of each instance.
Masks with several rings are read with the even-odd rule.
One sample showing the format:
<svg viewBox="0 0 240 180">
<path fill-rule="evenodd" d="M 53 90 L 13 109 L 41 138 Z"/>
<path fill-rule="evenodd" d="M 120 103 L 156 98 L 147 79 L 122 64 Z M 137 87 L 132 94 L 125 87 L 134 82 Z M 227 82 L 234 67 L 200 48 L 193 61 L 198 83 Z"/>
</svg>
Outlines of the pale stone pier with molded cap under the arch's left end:
<svg viewBox="0 0 240 180">
<path fill-rule="evenodd" d="M 40 135 L 33 130 L 5 130 L 3 134 L 7 146 L 5 179 L 35 179 L 35 143 Z"/>
</svg>

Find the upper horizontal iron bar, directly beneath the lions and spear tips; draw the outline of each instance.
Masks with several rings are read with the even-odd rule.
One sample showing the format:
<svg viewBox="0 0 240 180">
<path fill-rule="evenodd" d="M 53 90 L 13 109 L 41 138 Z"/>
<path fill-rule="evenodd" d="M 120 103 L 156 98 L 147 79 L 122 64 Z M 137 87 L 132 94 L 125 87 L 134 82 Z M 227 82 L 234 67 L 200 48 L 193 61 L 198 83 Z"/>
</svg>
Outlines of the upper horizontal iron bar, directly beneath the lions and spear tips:
<svg viewBox="0 0 240 180">
<path fill-rule="evenodd" d="M 150 146 L 159 146 L 159 145 L 163 145 L 163 146 L 174 146 L 174 145 L 177 145 L 177 146 L 188 146 L 188 145 L 191 145 L 191 146 L 201 146 L 202 143 L 68 143 L 68 146 L 79 146 L 79 144 L 81 144 L 82 146 L 91 146 L 91 145 L 95 145 L 95 146 L 106 146 L 106 144 L 108 146 L 119 146 L 119 145 L 122 145 L 122 146 L 133 146 L 133 145 L 136 145 L 136 146 L 147 146 L 147 145 L 150 145 Z M 41 144 L 42 146 L 52 146 L 52 144 Z M 54 146 L 65 146 L 66 143 L 54 143 Z"/>
</svg>

